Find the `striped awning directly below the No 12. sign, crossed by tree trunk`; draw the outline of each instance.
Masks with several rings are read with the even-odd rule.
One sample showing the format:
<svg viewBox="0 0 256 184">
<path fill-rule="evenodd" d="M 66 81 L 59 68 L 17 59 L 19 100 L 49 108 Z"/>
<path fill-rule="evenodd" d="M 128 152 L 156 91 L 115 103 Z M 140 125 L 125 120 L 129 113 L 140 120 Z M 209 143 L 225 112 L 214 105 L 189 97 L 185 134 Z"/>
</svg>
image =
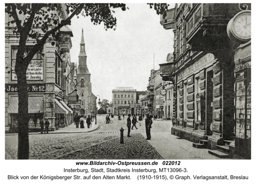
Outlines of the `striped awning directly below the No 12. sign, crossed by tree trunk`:
<svg viewBox="0 0 256 184">
<path fill-rule="evenodd" d="M 12 96 L 7 108 L 8 113 L 18 113 L 17 96 Z M 44 98 L 42 96 L 29 96 L 29 113 L 43 113 L 44 112 Z"/>
</svg>

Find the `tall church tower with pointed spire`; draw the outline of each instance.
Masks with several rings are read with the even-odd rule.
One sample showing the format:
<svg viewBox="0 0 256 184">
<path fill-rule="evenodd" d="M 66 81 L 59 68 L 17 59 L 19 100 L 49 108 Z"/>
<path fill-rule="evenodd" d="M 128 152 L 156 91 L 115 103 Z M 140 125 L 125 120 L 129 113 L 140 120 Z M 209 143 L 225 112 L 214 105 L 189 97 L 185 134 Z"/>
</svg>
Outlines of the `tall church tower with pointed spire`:
<svg viewBox="0 0 256 184">
<path fill-rule="evenodd" d="M 87 115 L 92 114 L 92 84 L 90 83 L 90 72 L 87 68 L 87 55 L 85 52 L 84 31 L 82 29 L 82 37 L 80 42 L 80 52 L 78 55 L 79 66 L 77 69 L 76 80 L 79 83 L 78 92 L 79 100 L 81 100 L 81 109 L 88 109 Z M 81 112 L 83 113 L 83 112 Z M 84 112 L 86 115 L 86 111 Z"/>
</svg>

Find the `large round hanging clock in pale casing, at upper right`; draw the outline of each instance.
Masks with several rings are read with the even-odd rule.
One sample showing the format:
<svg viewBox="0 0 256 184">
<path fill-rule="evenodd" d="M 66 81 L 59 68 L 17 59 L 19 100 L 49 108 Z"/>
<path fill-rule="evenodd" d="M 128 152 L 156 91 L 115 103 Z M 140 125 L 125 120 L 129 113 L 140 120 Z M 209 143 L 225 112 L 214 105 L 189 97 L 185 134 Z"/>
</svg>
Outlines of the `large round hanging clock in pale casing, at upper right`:
<svg viewBox="0 0 256 184">
<path fill-rule="evenodd" d="M 227 35 L 231 40 L 240 44 L 251 39 L 251 11 L 244 10 L 237 13 L 227 25 Z"/>
</svg>

